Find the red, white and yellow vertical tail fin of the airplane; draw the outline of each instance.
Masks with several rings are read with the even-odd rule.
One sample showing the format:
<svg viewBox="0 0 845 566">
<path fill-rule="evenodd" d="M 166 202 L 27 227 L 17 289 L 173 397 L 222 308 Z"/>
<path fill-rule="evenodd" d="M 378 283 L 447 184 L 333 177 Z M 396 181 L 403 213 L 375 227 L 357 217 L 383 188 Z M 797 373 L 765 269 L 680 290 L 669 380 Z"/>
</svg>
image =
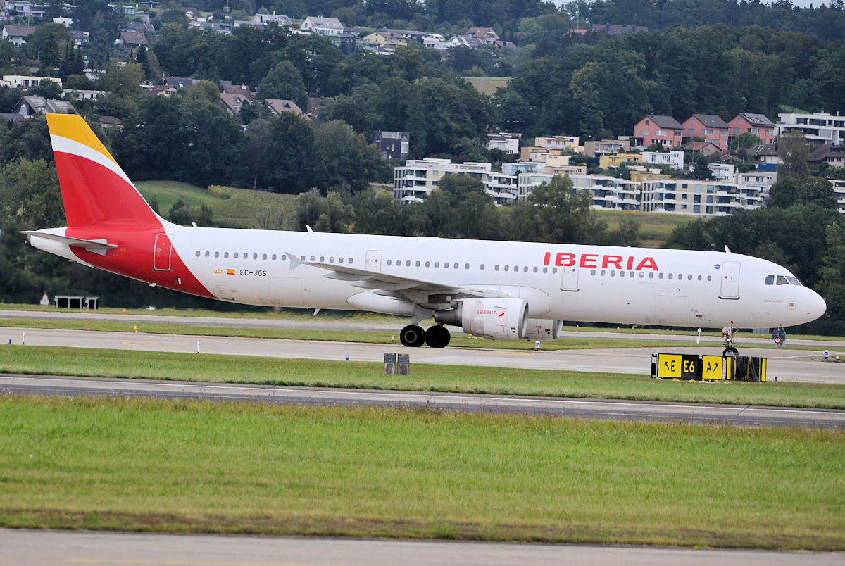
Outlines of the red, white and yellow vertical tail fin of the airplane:
<svg viewBox="0 0 845 566">
<path fill-rule="evenodd" d="M 163 220 L 82 117 L 47 114 L 47 125 L 69 227 L 161 228 Z"/>
</svg>

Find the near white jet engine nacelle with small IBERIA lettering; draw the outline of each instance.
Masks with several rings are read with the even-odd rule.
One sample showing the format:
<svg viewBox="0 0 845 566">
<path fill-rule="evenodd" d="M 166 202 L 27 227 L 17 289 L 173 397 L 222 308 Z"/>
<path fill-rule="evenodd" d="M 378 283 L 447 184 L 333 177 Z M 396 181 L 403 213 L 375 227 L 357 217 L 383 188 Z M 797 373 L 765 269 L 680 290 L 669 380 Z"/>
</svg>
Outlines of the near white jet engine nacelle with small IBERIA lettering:
<svg viewBox="0 0 845 566">
<path fill-rule="evenodd" d="M 434 320 L 461 326 L 466 334 L 493 340 L 521 340 L 526 336 L 528 303 L 522 299 L 465 299 L 455 308 L 434 311 Z"/>
</svg>

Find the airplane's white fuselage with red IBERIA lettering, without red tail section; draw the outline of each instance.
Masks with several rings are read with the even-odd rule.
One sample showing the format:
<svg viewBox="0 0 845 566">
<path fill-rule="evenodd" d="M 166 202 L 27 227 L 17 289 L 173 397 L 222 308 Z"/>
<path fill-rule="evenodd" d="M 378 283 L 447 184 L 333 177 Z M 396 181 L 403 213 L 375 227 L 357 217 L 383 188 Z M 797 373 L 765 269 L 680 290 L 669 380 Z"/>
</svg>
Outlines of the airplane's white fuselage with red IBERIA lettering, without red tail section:
<svg viewBox="0 0 845 566">
<path fill-rule="evenodd" d="M 787 269 L 735 253 L 168 226 L 173 249 L 215 297 L 280 307 L 412 314 L 412 302 L 331 266 L 519 297 L 532 318 L 619 324 L 775 327 L 820 316 Z M 237 257 L 236 257 L 237 254 Z M 292 269 L 288 254 L 305 262 Z M 773 278 L 771 276 L 774 276 Z M 449 297 L 446 297 L 449 298 Z M 417 304 L 436 307 L 440 299 Z M 428 302 L 427 302 L 428 301 Z"/>
</svg>

